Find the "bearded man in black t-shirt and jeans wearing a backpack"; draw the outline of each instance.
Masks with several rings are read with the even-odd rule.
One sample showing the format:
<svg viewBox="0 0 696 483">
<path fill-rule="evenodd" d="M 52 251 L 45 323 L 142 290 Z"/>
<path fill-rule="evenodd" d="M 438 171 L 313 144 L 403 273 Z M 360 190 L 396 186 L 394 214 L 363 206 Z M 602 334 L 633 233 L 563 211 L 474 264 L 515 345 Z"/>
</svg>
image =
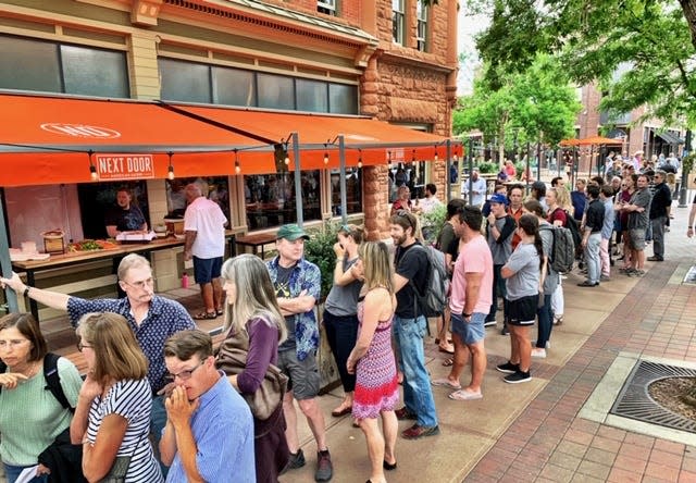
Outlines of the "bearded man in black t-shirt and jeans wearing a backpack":
<svg viewBox="0 0 696 483">
<path fill-rule="evenodd" d="M 439 434 L 435 400 L 431 388 L 423 336 L 427 320 L 417 305 L 414 289 L 424 294 L 430 262 L 427 253 L 415 239 L 417 218 L 406 210 L 399 210 L 389 219 L 389 233 L 396 255 L 394 258 L 394 290 L 396 292 L 396 312 L 394 315 L 394 335 L 399 347 L 399 367 L 403 371 L 403 401 L 406 406 L 396 410 L 399 420 L 417 422 L 403 431 L 407 439 L 418 439 Z M 412 282 L 412 283 L 411 283 Z"/>
</svg>

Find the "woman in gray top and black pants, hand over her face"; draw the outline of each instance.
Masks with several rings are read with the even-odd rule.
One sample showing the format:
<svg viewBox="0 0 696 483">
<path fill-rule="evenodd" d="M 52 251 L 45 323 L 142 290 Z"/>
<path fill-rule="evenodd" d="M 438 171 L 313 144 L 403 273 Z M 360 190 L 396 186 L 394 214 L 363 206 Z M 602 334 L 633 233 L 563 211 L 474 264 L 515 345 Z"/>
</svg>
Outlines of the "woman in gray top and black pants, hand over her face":
<svg viewBox="0 0 696 483">
<path fill-rule="evenodd" d="M 331 412 L 334 418 L 352 411 L 356 375 L 348 373 L 346 361 L 358 338 L 358 296 L 362 288 L 362 281 L 355 267 L 358 261 L 358 247 L 364 237 L 364 228 L 344 225 L 338 230 L 337 237 L 338 242 L 334 245 L 336 253 L 334 285 L 326 297 L 323 314 L 326 338 L 334 355 L 345 394 L 340 405 Z"/>
</svg>

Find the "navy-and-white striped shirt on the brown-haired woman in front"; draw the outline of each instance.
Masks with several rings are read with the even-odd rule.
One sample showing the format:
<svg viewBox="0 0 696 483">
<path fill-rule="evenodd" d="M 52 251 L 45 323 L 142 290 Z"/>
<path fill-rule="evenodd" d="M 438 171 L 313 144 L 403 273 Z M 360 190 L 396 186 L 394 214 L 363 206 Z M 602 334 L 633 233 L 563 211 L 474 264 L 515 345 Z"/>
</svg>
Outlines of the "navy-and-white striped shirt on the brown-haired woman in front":
<svg viewBox="0 0 696 483">
<path fill-rule="evenodd" d="M 128 421 L 116 456 L 130 456 L 125 483 L 162 482 L 160 466 L 154 459 L 148 433 L 152 393 L 147 377 L 116 381 L 107 396 L 97 396 L 89 407 L 87 439 L 95 444 L 101 421 L 109 414 L 119 414 Z"/>
</svg>

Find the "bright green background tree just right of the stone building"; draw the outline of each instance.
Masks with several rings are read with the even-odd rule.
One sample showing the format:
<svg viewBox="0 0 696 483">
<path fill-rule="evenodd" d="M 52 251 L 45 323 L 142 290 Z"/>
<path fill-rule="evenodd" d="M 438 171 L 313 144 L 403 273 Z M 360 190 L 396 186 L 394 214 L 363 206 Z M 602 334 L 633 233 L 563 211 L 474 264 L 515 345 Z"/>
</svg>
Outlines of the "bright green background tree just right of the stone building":
<svg viewBox="0 0 696 483">
<path fill-rule="evenodd" d="M 498 73 L 496 87 L 488 82 L 490 69 L 474 81 L 471 96 L 459 99 L 455 134 L 480 129 L 487 141 L 496 138 L 500 160 L 511 147 L 510 133 L 520 145 L 555 145 L 572 136 L 581 104 L 554 58 L 538 55 L 523 73 Z"/>
</svg>

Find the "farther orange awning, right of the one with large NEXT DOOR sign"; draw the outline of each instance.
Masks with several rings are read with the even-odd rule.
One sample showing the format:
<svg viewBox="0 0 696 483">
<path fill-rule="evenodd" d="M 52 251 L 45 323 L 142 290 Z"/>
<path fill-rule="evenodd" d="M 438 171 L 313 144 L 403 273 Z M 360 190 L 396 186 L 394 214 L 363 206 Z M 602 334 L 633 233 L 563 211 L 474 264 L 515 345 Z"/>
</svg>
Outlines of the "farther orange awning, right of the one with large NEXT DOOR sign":
<svg viewBox="0 0 696 483">
<path fill-rule="evenodd" d="M 287 141 L 297 132 L 300 145 L 300 165 L 303 170 L 338 168 L 336 136 L 344 135 L 346 165 L 433 160 L 435 153 L 445 159 L 446 137 L 409 129 L 364 116 L 270 112 L 252 109 L 172 104 L 177 112 L 188 112 L 199 119 L 235 126 L 276 143 Z M 288 145 L 293 163 L 293 145 Z M 328 153 L 328 163 L 324 154 Z M 452 140 L 451 154 L 461 156 L 461 141 Z M 293 169 L 293 164 L 290 165 Z"/>
</svg>

